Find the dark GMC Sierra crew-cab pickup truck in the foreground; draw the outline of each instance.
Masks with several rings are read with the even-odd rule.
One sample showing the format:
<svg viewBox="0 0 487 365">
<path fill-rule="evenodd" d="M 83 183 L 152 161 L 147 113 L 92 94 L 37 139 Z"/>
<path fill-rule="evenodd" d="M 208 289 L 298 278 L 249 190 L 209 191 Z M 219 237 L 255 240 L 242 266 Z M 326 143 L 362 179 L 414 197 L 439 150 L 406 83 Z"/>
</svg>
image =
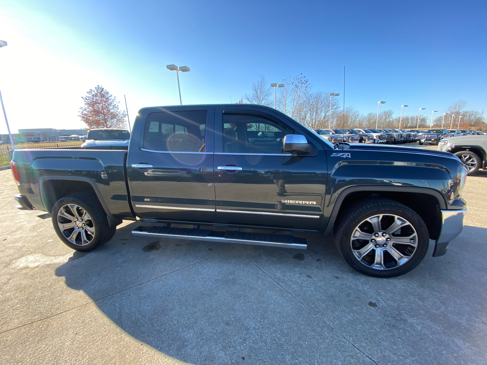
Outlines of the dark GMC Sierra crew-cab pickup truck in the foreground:
<svg viewBox="0 0 487 365">
<path fill-rule="evenodd" d="M 333 145 L 248 104 L 144 108 L 128 150 L 15 150 L 11 165 L 15 199 L 51 214 L 79 251 L 122 219 L 141 221 L 135 236 L 298 249 L 306 238 L 293 232 L 331 234 L 354 269 L 392 277 L 416 267 L 430 239 L 444 255 L 466 212 L 467 170 L 451 153 Z"/>
</svg>

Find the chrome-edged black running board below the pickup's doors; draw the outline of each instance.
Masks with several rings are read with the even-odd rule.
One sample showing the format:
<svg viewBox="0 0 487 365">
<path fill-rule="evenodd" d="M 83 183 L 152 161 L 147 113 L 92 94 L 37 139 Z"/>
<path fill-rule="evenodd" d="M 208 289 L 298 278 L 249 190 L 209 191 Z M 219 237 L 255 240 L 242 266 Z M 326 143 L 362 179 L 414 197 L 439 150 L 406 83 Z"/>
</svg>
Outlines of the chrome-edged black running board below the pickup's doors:
<svg viewBox="0 0 487 365">
<path fill-rule="evenodd" d="M 307 242 L 304 237 L 291 235 L 268 235 L 262 233 L 247 233 L 238 231 L 213 231 L 196 228 L 173 228 L 158 226 L 139 226 L 132 231 L 133 236 L 190 239 L 195 241 L 210 241 L 222 243 L 240 243 L 245 245 L 287 247 L 306 250 Z"/>
</svg>

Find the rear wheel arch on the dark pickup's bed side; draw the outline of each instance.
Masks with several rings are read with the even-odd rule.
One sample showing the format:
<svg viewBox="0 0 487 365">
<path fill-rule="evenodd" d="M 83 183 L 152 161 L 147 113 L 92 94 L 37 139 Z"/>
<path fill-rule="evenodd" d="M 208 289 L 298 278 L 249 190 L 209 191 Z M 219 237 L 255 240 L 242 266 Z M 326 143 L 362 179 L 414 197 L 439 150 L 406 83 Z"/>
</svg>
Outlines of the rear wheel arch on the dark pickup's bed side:
<svg viewBox="0 0 487 365">
<path fill-rule="evenodd" d="M 39 179 L 40 199 L 47 212 L 52 215 L 56 201 L 74 193 L 88 193 L 98 198 L 109 224 L 118 225 L 122 221 L 113 217 L 96 183 L 84 176 L 45 175 Z"/>
</svg>

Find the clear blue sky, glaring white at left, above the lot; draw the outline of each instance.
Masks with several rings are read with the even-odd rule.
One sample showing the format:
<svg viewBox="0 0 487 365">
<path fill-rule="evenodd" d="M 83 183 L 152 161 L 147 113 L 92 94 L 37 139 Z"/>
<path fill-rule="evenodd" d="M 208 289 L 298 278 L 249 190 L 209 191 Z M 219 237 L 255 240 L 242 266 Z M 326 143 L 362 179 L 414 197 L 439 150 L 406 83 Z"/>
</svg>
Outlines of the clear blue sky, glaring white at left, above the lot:
<svg viewBox="0 0 487 365">
<path fill-rule="evenodd" d="M 78 128 L 103 85 L 131 120 L 153 105 L 228 103 L 259 75 L 303 73 L 362 112 L 487 109 L 486 1 L 2 1 L 0 90 L 11 128 Z M 438 113 L 439 114 L 439 113 Z M 5 132 L 1 123 L 0 132 Z"/>
</svg>

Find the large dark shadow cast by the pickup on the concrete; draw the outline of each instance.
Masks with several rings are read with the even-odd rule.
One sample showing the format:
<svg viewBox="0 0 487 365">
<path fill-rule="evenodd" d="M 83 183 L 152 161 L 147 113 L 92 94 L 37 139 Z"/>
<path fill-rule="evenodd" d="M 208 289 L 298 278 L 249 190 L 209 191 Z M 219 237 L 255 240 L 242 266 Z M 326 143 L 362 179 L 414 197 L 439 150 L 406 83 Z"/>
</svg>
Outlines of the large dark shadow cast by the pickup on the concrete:
<svg viewBox="0 0 487 365">
<path fill-rule="evenodd" d="M 378 279 L 351 269 L 319 235 L 307 235 L 301 251 L 132 237 L 137 225 L 75 253 L 56 275 L 135 339 L 178 360 L 370 363 L 363 351 L 385 362 L 463 356 L 476 363 L 485 356 L 486 255 L 478 238 L 485 228 L 466 226 L 447 256 L 431 257 L 430 247 L 411 273 Z"/>
</svg>

